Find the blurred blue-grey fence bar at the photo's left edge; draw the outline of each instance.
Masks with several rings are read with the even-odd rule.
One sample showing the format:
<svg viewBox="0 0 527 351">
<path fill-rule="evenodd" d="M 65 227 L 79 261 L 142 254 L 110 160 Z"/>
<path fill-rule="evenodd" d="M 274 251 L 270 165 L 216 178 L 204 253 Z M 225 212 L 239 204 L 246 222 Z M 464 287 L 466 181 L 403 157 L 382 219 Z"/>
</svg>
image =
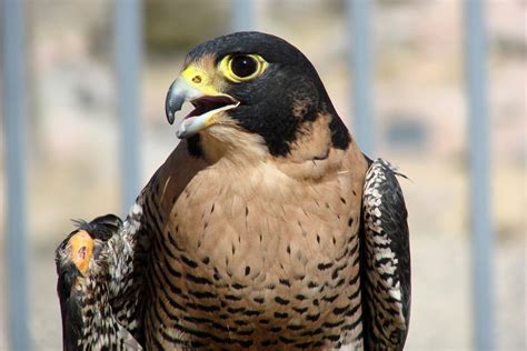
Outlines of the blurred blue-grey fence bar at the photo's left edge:
<svg viewBox="0 0 527 351">
<path fill-rule="evenodd" d="M 7 181 L 7 322 L 11 350 L 29 350 L 26 214 L 26 76 L 23 2 L 2 1 Z"/>
</svg>

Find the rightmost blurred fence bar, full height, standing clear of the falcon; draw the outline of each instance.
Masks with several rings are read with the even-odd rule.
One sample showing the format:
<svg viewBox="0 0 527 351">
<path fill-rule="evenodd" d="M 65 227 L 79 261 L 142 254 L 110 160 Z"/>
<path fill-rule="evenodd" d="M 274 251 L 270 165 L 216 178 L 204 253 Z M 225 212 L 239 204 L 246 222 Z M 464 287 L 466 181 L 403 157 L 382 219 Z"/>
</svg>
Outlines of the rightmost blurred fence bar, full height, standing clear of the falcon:
<svg viewBox="0 0 527 351">
<path fill-rule="evenodd" d="M 470 163 L 470 225 L 475 350 L 494 348 L 493 231 L 489 207 L 489 120 L 487 111 L 487 46 L 484 1 L 465 0 L 465 49 Z"/>
</svg>

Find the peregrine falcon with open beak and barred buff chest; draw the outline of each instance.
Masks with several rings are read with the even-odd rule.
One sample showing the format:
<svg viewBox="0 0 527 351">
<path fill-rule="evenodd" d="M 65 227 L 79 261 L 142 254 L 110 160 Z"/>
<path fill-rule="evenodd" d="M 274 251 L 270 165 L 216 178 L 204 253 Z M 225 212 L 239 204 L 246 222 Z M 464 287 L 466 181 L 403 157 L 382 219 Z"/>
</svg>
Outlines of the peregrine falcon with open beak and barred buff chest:
<svg viewBox="0 0 527 351">
<path fill-rule="evenodd" d="M 166 99 L 181 139 L 125 221 L 57 249 L 67 350 L 401 350 L 397 171 L 358 148 L 309 60 L 238 32 L 192 49 Z"/>
</svg>

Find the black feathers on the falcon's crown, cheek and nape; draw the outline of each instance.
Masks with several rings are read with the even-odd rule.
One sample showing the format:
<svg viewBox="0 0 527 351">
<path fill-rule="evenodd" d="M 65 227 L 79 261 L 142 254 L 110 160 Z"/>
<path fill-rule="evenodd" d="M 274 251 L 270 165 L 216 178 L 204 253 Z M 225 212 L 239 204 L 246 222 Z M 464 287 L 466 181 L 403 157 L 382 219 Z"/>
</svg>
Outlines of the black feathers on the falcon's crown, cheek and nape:
<svg viewBox="0 0 527 351">
<path fill-rule="evenodd" d="M 348 147 L 349 132 L 316 69 L 300 50 L 284 39 L 261 32 L 237 32 L 199 44 L 189 52 L 186 62 L 206 54 L 213 54 L 220 62 L 227 54 L 242 53 L 259 54 L 269 66 L 255 80 L 228 86 L 223 92 L 240 101 L 229 114 L 246 130 L 260 134 L 271 154 L 287 156 L 301 123 L 315 120 L 319 113 L 332 117 L 329 128 L 334 147 Z M 301 116 L 292 112 L 299 103 Z"/>
</svg>

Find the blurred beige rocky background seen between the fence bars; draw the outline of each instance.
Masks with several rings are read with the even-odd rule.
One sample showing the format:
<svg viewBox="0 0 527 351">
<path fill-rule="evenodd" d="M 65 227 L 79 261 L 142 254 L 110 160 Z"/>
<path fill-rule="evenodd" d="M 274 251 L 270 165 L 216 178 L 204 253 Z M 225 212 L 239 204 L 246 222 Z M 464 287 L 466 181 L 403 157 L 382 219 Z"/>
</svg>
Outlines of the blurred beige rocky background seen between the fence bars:
<svg viewBox="0 0 527 351">
<path fill-rule="evenodd" d="M 26 3 L 30 329 L 36 350 L 58 350 L 54 248 L 70 232 L 69 219 L 123 214 L 118 203 L 122 174 L 113 2 Z M 474 301 L 463 2 L 379 0 L 372 4 L 376 151 L 370 157 L 392 161 L 410 179 L 402 180 L 414 270 L 406 349 L 469 350 Z M 488 0 L 486 10 L 494 332 L 497 350 L 526 350 L 527 2 Z M 287 39 L 310 58 L 340 116 L 352 126 L 344 1 L 259 0 L 256 12 L 258 30 Z M 178 142 L 175 128 L 166 122 L 163 101 L 185 53 L 229 32 L 230 18 L 228 0 L 143 2 L 142 183 Z M 0 143 L 2 198 L 4 148 Z M 4 209 L 6 202 L 0 208 L 2 232 Z M 1 250 L 3 239 L 0 235 Z M 3 283 L 3 264 L 0 278 Z M 0 298 L 0 350 L 6 350 L 2 289 Z"/>
</svg>

